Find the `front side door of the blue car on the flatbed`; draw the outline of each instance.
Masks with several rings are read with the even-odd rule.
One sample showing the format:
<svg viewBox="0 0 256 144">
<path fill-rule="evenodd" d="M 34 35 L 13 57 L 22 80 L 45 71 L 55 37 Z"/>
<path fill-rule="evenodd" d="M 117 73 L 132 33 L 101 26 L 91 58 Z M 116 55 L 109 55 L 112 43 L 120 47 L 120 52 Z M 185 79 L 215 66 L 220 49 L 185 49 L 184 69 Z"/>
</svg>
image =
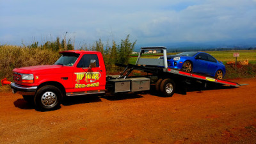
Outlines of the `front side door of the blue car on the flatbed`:
<svg viewBox="0 0 256 144">
<path fill-rule="evenodd" d="M 193 63 L 193 72 L 200 74 L 207 74 L 208 57 L 204 53 L 199 53 L 195 56 L 195 63 Z"/>
</svg>

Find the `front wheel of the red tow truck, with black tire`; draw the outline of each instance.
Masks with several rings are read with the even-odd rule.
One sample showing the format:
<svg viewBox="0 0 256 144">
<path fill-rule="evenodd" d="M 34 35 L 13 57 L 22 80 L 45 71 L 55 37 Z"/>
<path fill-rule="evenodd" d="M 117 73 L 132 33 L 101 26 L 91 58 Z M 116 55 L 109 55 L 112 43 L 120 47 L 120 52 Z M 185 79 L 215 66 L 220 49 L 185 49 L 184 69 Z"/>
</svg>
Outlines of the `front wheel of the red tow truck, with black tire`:
<svg viewBox="0 0 256 144">
<path fill-rule="evenodd" d="M 62 93 L 55 86 L 47 85 L 40 88 L 35 95 L 35 106 L 40 111 L 51 111 L 60 107 Z"/>
</svg>

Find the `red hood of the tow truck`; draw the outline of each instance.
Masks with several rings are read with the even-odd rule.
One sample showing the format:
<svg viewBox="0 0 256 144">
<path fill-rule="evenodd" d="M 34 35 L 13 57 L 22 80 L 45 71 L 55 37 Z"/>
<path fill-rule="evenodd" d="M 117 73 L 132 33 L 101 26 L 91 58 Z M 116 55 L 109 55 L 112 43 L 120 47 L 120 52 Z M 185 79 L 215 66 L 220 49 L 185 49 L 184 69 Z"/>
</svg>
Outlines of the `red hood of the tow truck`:
<svg viewBox="0 0 256 144">
<path fill-rule="evenodd" d="M 49 74 L 72 72 L 72 67 L 62 65 L 37 65 L 31 67 L 14 68 L 13 72 L 21 74 Z"/>
</svg>

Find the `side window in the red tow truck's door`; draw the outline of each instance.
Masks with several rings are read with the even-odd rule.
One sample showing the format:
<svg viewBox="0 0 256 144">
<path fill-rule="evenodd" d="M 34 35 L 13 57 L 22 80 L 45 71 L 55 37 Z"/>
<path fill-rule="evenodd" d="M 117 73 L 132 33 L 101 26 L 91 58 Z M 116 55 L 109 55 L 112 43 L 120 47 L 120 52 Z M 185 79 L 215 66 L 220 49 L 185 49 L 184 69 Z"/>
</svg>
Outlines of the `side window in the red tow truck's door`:
<svg viewBox="0 0 256 144">
<path fill-rule="evenodd" d="M 99 59 L 97 54 L 84 54 L 77 67 L 89 67 L 91 60 L 96 60 L 96 67 L 99 67 Z"/>
</svg>

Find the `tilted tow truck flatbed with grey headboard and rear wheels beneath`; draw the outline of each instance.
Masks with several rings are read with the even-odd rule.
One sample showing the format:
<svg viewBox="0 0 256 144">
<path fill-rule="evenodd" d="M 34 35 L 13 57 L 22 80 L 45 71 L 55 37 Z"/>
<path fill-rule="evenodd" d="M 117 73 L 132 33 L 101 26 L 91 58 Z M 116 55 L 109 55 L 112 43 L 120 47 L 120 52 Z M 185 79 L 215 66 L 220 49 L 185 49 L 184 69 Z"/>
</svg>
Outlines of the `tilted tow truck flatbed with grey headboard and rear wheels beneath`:
<svg viewBox="0 0 256 144">
<path fill-rule="evenodd" d="M 152 56 L 163 56 L 159 58 L 152 58 Z M 196 88 L 197 90 L 204 90 L 205 88 L 214 88 L 218 85 L 239 87 L 246 84 L 238 84 L 223 79 L 216 79 L 212 76 L 198 74 L 193 72 L 185 72 L 180 69 L 170 68 L 167 63 L 166 47 L 141 47 L 135 65 L 128 64 L 118 66 L 125 67 L 125 70 L 116 79 L 126 79 L 132 70 L 141 70 L 150 73 L 147 76 L 150 78 L 150 84 L 154 85 L 156 92 L 162 93 L 164 97 L 171 97 L 175 93 L 175 89 L 179 92 L 186 94 L 187 88 Z M 109 77 L 113 79 L 113 77 Z"/>
</svg>

